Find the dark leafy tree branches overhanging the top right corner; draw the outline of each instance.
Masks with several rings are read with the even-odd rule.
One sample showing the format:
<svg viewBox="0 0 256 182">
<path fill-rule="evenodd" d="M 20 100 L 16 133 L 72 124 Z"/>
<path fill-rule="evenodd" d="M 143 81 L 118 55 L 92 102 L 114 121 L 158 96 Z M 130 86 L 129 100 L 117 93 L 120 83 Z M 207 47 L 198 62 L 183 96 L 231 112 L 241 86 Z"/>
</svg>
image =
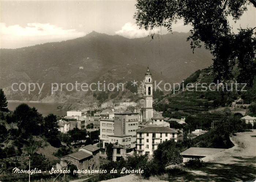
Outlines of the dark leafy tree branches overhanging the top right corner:
<svg viewBox="0 0 256 182">
<path fill-rule="evenodd" d="M 233 79 L 238 67 L 234 79 L 251 86 L 256 76 L 256 32 L 241 28 L 235 34 L 228 20 L 240 19 L 249 4 L 256 7 L 255 0 L 137 0 L 134 18 L 140 28 L 163 26 L 170 32 L 172 24 L 183 19 L 184 25 L 193 27 L 187 39 L 193 51 L 203 43 L 214 56 L 215 81 Z"/>
</svg>

